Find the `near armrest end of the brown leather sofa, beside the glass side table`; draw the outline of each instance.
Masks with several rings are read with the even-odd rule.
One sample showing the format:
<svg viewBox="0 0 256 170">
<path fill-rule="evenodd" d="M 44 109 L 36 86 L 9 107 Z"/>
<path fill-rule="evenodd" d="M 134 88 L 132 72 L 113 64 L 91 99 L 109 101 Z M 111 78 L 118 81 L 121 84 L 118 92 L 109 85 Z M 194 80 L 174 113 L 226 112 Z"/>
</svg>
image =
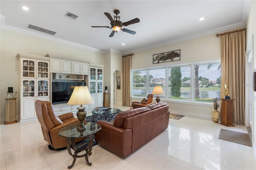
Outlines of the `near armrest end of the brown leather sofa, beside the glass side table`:
<svg viewBox="0 0 256 170">
<path fill-rule="evenodd" d="M 95 136 L 96 142 L 102 147 L 121 158 L 132 153 L 132 130 L 115 127 L 113 122 L 98 121 L 101 130 Z"/>
</svg>

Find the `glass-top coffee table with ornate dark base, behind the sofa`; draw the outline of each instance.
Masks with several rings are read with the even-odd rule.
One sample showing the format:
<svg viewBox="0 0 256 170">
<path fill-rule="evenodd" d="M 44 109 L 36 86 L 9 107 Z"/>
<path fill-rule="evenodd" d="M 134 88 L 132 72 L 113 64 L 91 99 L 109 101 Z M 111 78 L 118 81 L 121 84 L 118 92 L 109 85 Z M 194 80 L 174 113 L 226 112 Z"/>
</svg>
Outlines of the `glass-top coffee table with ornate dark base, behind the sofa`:
<svg viewBox="0 0 256 170">
<path fill-rule="evenodd" d="M 92 122 L 96 121 L 111 121 L 116 117 L 116 114 L 122 112 L 120 109 L 109 108 L 108 110 L 92 111 Z"/>
</svg>

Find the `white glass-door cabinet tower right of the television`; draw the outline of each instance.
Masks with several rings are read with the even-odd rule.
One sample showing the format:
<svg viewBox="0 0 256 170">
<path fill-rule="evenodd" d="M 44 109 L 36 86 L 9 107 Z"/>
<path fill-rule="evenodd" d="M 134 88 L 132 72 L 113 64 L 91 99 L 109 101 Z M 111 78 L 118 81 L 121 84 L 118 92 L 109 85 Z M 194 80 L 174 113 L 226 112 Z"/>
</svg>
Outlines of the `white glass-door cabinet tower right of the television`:
<svg viewBox="0 0 256 170">
<path fill-rule="evenodd" d="M 90 66 L 89 91 L 94 103 L 90 108 L 103 106 L 103 67 L 99 65 Z"/>
</svg>

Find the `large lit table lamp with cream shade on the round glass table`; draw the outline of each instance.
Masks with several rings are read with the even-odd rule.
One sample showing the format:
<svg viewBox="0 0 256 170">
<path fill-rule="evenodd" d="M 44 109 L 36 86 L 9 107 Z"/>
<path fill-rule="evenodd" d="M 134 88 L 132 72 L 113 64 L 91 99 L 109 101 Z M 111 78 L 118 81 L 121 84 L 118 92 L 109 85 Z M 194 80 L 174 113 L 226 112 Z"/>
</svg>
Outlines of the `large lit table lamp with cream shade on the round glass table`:
<svg viewBox="0 0 256 170">
<path fill-rule="evenodd" d="M 75 86 L 74 91 L 68 101 L 68 105 L 80 105 L 76 116 L 80 121 L 80 126 L 77 128 L 78 131 L 85 130 L 84 119 L 86 117 L 85 107 L 82 105 L 94 103 L 87 86 Z"/>
</svg>

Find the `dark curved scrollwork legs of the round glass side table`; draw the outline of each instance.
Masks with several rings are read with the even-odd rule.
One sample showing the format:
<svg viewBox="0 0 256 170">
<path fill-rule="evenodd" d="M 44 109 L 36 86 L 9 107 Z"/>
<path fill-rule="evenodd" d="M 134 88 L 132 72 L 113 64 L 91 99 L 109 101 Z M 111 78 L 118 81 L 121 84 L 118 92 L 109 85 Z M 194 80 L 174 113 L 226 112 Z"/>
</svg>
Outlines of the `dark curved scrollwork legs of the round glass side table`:
<svg viewBox="0 0 256 170">
<path fill-rule="evenodd" d="M 68 169 L 72 168 L 76 162 L 76 158 L 82 158 L 82 157 L 85 157 L 85 160 L 86 160 L 86 163 L 91 166 L 92 163 L 89 162 L 88 160 L 88 155 L 92 154 L 92 144 L 93 144 L 93 135 L 90 134 L 89 136 L 87 136 L 89 138 L 89 142 L 88 142 L 88 145 L 86 146 L 86 148 L 80 148 L 78 149 L 76 147 L 76 143 L 75 143 L 75 138 L 67 138 L 67 150 L 68 150 L 68 153 L 70 154 L 70 156 L 72 156 L 74 158 L 72 164 L 70 166 L 68 166 Z M 72 148 L 74 149 L 74 154 L 72 154 L 71 152 L 71 146 L 70 144 L 72 145 Z M 79 152 L 85 150 L 86 153 L 85 154 L 82 154 L 82 155 L 78 155 Z"/>
</svg>

